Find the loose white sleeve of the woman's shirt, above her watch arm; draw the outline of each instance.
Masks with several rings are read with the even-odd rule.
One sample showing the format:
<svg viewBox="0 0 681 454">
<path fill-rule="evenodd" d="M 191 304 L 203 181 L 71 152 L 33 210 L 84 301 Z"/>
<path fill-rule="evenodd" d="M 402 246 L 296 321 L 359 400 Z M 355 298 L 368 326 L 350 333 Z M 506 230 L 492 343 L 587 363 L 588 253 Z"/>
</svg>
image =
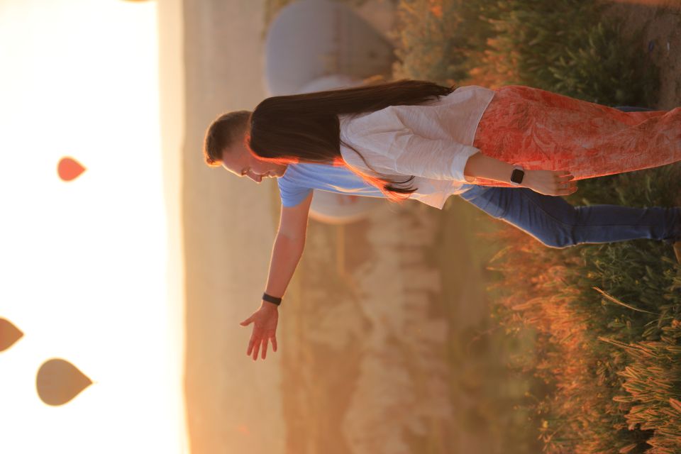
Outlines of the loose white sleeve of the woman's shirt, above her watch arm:
<svg viewBox="0 0 681 454">
<path fill-rule="evenodd" d="M 350 142 L 370 165 L 374 163 L 399 175 L 466 182 L 466 162 L 480 150 L 454 140 L 421 137 L 390 117 L 375 118 L 373 124 L 357 124 L 349 131 Z M 384 123 L 379 126 L 377 121 Z"/>
</svg>

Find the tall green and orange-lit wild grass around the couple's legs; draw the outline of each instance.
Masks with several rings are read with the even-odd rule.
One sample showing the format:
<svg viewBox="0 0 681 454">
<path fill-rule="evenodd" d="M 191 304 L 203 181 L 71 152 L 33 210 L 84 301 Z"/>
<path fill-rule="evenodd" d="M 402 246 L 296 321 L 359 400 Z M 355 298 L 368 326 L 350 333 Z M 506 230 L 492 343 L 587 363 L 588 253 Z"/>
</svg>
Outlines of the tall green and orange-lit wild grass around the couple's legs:
<svg viewBox="0 0 681 454">
<path fill-rule="evenodd" d="M 525 84 L 608 105 L 654 105 L 658 69 L 640 31 L 624 33 L 603 5 L 557 0 L 403 0 L 394 77 L 500 87 Z M 643 70 L 646 74 L 643 74 Z M 580 182 L 573 204 L 680 206 L 681 165 Z M 443 213 L 446 245 L 461 207 Z M 470 214 L 470 213 L 469 213 Z M 480 411 L 507 453 L 681 452 L 681 268 L 670 245 L 635 240 L 556 250 L 499 221 L 468 238 L 488 263 L 493 322 L 475 361 Z M 466 282 L 451 281 L 445 302 Z M 493 378 L 491 378 L 493 377 Z M 515 383 L 514 383 L 515 380 Z M 506 384 L 514 383 L 514 386 Z M 459 392 L 463 384 L 456 383 Z M 485 392 L 480 392 L 485 389 Z"/>
</svg>

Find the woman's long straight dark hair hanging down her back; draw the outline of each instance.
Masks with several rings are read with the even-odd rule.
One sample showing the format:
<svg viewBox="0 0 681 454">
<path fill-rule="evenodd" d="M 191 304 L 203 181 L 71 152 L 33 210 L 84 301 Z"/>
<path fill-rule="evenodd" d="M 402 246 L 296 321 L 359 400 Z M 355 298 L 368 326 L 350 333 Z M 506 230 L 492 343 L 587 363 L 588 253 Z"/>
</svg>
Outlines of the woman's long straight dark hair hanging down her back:
<svg viewBox="0 0 681 454">
<path fill-rule="evenodd" d="M 454 87 L 433 82 L 404 79 L 326 92 L 272 96 L 260 102 L 250 116 L 249 146 L 259 159 L 277 164 L 317 162 L 340 166 L 344 165 L 342 144 L 374 170 L 358 150 L 341 140 L 338 116 L 364 114 L 387 106 L 424 104 L 453 90 Z M 406 199 L 409 195 L 405 194 L 418 189 L 401 186 L 411 182 L 414 175 L 396 181 L 348 168 L 392 201 Z"/>
</svg>

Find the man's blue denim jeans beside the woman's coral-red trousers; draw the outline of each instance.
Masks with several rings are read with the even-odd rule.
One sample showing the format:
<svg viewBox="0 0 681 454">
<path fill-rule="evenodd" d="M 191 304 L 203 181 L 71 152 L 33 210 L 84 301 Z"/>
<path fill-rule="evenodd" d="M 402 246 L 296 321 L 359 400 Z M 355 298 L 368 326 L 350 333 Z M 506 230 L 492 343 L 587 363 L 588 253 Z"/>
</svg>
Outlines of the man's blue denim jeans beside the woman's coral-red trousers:
<svg viewBox="0 0 681 454">
<path fill-rule="evenodd" d="M 653 110 L 629 106 L 616 109 Z M 681 240 L 681 207 L 572 206 L 560 196 L 545 196 L 527 188 L 465 184 L 464 189 L 461 198 L 552 248 L 639 238 L 670 243 Z"/>
</svg>

